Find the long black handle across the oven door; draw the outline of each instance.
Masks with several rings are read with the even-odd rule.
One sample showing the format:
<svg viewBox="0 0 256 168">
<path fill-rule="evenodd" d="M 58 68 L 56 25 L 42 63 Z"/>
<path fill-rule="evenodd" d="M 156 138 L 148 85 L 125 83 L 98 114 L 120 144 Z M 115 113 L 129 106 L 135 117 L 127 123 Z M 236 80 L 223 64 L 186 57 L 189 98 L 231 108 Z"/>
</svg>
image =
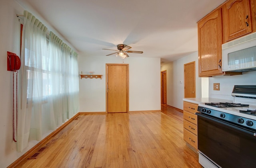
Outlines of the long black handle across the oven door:
<svg viewBox="0 0 256 168">
<path fill-rule="evenodd" d="M 226 126 L 228 126 L 228 127 L 232 127 L 232 128 L 234 128 L 234 129 L 238 129 L 238 130 L 240 130 L 240 131 L 242 131 L 242 132 L 244 132 L 244 133 L 248 133 L 248 134 L 253 135 L 254 137 L 256 137 L 256 132 L 253 132 L 253 131 L 251 131 L 251 130 L 242 128 L 242 127 L 240 127 L 240 126 L 238 126 L 238 125 L 234 125 L 234 124 L 232 124 L 232 123 L 228 123 L 228 122 L 226 122 L 226 121 L 223 121 L 223 120 L 220 120 L 220 119 L 217 119 L 217 118 L 208 116 L 208 115 L 206 115 L 206 114 L 204 114 L 204 113 L 196 113 L 196 115 L 198 115 L 198 116 L 200 116 L 200 117 L 203 117 L 203 118 L 205 118 L 205 119 L 208 119 L 208 120 L 212 120 L 212 121 L 215 121 L 215 122 L 224 124 L 224 125 L 226 125 Z"/>
</svg>

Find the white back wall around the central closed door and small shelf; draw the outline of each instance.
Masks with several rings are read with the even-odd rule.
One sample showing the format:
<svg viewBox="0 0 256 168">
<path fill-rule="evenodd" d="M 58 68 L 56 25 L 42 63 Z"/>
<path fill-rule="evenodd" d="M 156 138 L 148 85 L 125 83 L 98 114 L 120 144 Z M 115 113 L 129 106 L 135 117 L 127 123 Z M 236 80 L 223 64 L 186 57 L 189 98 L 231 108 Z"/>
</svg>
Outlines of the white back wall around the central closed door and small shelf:
<svg viewBox="0 0 256 168">
<path fill-rule="evenodd" d="M 80 112 L 106 111 L 106 63 L 122 64 L 116 57 L 79 56 L 79 72 L 102 74 L 102 79 L 79 80 Z M 129 111 L 160 110 L 160 58 L 129 57 Z"/>
</svg>

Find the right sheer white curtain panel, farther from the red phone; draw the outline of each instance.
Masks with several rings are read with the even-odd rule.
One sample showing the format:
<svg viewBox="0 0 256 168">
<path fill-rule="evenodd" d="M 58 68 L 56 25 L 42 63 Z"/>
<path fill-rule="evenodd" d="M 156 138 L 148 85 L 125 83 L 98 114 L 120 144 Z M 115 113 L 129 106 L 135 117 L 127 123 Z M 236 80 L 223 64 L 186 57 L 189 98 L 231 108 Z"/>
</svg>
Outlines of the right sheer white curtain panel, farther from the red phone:
<svg viewBox="0 0 256 168">
<path fill-rule="evenodd" d="M 73 117 L 79 108 L 77 54 L 50 32 L 49 55 L 53 64 L 51 85 L 54 118 L 56 126 L 60 126 Z"/>
</svg>

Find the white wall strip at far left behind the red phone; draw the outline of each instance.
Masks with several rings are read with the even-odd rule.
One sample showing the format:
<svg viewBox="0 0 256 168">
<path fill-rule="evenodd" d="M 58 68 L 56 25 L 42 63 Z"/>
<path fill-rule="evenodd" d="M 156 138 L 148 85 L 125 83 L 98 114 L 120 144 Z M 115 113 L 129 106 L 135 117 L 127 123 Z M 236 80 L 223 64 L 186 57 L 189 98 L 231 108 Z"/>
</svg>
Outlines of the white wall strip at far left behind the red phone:
<svg viewBox="0 0 256 168">
<path fill-rule="evenodd" d="M 7 71 L 7 51 L 20 56 L 20 23 L 16 14 L 23 14 L 14 0 L 0 2 L 0 167 L 5 168 L 22 153 L 12 141 L 12 72 Z"/>
</svg>

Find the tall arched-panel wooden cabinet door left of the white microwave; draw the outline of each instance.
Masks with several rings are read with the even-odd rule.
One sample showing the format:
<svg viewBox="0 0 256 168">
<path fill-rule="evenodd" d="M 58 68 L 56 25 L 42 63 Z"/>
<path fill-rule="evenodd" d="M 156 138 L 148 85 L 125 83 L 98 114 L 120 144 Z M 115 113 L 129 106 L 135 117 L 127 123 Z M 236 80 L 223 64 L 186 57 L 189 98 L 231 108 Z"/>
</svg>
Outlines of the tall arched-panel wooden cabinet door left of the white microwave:
<svg viewBox="0 0 256 168">
<path fill-rule="evenodd" d="M 199 76 L 222 74 L 221 69 L 222 16 L 221 8 L 198 22 Z"/>
</svg>

